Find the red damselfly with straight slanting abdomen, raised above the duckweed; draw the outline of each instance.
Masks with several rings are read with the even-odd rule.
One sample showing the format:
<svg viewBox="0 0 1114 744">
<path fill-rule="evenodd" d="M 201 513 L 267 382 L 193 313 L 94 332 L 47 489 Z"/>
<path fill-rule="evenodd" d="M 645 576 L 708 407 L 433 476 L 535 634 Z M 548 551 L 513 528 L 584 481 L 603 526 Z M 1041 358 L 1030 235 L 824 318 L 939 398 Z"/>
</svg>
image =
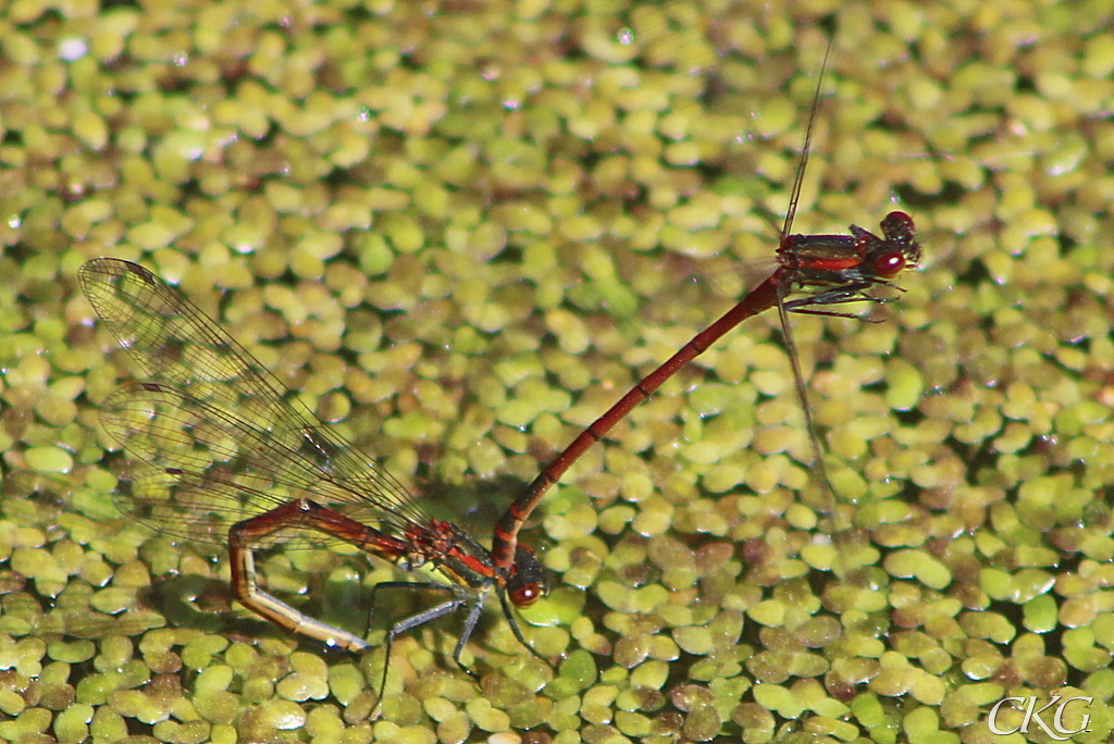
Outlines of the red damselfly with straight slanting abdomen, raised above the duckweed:
<svg viewBox="0 0 1114 744">
<path fill-rule="evenodd" d="M 793 342 L 789 313 L 856 317 L 851 313 L 839 312 L 831 310 L 831 307 L 856 302 L 891 302 L 893 297 L 873 295 L 870 294 L 870 291 L 878 287 L 901 291 L 901 287 L 891 280 L 920 262 L 920 245 L 913 236 L 912 218 L 903 212 L 891 212 L 882 219 L 882 237 L 878 237 L 858 225 L 851 225 L 850 235 L 791 234 L 793 219 L 797 216 L 797 205 L 801 197 L 801 185 L 804 182 L 804 170 L 809 161 L 812 130 L 817 112 L 820 109 L 821 87 L 830 52 L 831 42 L 824 52 L 818 76 L 809 124 L 804 134 L 804 147 L 801 150 L 801 158 L 790 193 L 789 209 L 781 229 L 778 268 L 740 300 L 734 307 L 724 313 L 720 320 L 697 333 L 665 363 L 643 378 L 541 470 L 526 492 L 510 505 L 507 512 L 496 523 L 491 547 L 496 566 L 506 570 L 515 565 L 518 535 L 522 525 L 549 487 L 565 474 L 585 450 L 603 439 L 635 405 L 652 395 L 666 380 L 704 353 L 727 331 L 747 317 L 771 307 L 776 307 L 780 315 L 782 335 L 789 352 L 798 398 L 804 410 L 804 424 L 812 442 L 812 454 L 820 487 L 824 491 L 829 509 L 834 512 L 834 492 L 828 479 L 823 453 L 812 420 L 808 390 L 801 373 L 797 345 Z"/>
</svg>

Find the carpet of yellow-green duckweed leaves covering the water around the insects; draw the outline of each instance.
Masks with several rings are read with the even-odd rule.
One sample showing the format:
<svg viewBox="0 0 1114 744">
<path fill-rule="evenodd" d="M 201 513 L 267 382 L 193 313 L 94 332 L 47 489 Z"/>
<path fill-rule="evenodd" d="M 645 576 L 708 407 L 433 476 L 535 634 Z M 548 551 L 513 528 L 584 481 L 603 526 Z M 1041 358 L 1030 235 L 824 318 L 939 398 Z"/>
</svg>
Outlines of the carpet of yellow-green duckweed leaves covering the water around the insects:
<svg viewBox="0 0 1114 744">
<path fill-rule="evenodd" d="M 1102 13 L 841 11 L 794 232 L 896 197 L 926 267 L 848 305 L 880 323 L 792 319 L 834 503 L 752 319 L 531 518 L 554 591 L 518 617 L 557 669 L 490 611 L 477 683 L 450 616 L 397 639 L 379 706 L 381 625 L 300 643 L 229 609 L 218 546 L 119 519 L 96 409 L 130 370 L 77 266 L 180 285 L 409 491 L 529 480 L 764 276 L 825 38 L 730 3 L 287 10 L 4 11 L 0 737 L 976 742 L 1071 683 L 1110 738 Z M 481 541 L 514 492 L 469 503 Z M 312 609 L 390 575 L 260 565 Z"/>
</svg>

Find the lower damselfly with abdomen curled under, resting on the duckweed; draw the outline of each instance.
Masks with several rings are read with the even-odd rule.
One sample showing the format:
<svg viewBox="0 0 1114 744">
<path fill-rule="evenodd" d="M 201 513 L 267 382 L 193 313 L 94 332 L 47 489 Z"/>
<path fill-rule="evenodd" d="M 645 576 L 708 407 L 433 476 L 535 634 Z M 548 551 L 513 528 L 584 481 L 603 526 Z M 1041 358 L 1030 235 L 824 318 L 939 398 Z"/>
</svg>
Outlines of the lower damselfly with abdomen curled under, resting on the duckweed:
<svg viewBox="0 0 1114 744">
<path fill-rule="evenodd" d="M 532 550 L 519 546 L 514 561 L 499 566 L 461 528 L 424 515 L 402 483 L 322 424 L 215 321 L 146 268 L 94 258 L 78 277 L 144 378 L 113 392 L 100 415 L 109 435 L 149 466 L 117 492 L 121 512 L 170 537 L 226 545 L 232 591 L 242 605 L 291 633 L 350 652 L 369 644 L 260 587 L 254 550 L 296 530 L 311 545 L 343 541 L 404 570 L 438 569 L 444 581 L 388 581 L 372 589 L 448 594 L 390 627 L 380 693 L 393 638 L 458 609 L 467 614 L 452 658 L 467 670 L 460 655 L 492 591 L 515 636 L 534 650 L 510 609 L 548 590 Z"/>
</svg>

